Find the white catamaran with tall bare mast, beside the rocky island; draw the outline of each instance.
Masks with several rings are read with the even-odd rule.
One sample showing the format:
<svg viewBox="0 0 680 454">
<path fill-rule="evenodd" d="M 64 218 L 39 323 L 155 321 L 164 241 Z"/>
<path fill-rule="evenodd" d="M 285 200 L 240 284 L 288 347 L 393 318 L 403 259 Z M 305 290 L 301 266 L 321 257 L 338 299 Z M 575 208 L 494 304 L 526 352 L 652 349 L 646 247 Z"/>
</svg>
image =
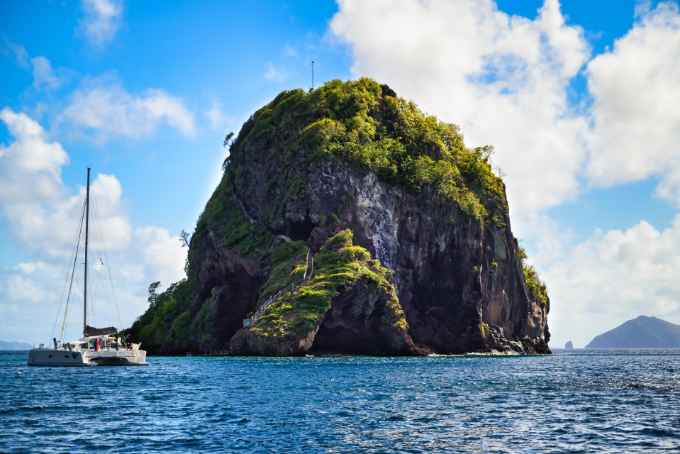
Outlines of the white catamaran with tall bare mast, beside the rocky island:
<svg viewBox="0 0 680 454">
<path fill-rule="evenodd" d="M 92 328 L 87 325 L 87 237 L 89 230 L 89 202 L 90 202 L 90 169 L 87 169 L 87 192 L 85 196 L 84 218 L 85 218 L 85 272 L 84 272 L 84 293 L 83 293 L 83 337 L 77 341 L 62 343 L 53 338 L 53 347 L 33 348 L 28 352 L 28 365 L 30 366 L 96 366 L 96 365 L 116 365 L 116 366 L 136 366 L 148 365 L 146 362 L 146 352 L 140 350 L 140 344 L 125 343 L 116 336 L 116 328 Z M 82 222 L 81 222 L 82 228 Z M 77 250 L 74 254 L 74 266 L 78 258 Z M 74 271 L 72 271 L 74 272 Z M 71 282 L 73 282 L 71 277 Z M 69 297 L 71 291 L 69 290 Z M 68 314 L 67 299 L 64 323 L 62 323 L 62 338 L 64 336 L 64 326 Z"/>
</svg>

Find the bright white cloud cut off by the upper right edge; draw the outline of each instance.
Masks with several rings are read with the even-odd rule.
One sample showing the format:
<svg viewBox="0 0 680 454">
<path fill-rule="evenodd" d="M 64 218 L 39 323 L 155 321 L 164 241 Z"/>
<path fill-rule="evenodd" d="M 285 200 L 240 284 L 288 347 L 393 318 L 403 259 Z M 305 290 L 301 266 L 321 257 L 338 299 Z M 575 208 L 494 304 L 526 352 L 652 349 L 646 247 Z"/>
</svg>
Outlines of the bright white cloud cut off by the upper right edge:
<svg viewBox="0 0 680 454">
<path fill-rule="evenodd" d="M 609 187 L 662 177 L 657 194 L 680 207 L 680 14 L 647 11 L 588 64 L 593 134 L 588 175 Z"/>
</svg>

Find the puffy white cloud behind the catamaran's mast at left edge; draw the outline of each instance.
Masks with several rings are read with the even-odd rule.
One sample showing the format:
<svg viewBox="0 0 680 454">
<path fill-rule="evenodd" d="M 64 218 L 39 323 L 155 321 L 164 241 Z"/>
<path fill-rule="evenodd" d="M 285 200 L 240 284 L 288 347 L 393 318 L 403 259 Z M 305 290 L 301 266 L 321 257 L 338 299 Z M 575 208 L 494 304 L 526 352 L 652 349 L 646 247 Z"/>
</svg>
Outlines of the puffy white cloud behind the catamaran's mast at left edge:
<svg viewBox="0 0 680 454">
<path fill-rule="evenodd" d="M 49 142 L 37 122 L 11 109 L 0 111 L 15 140 L 0 147 L 0 206 L 15 238 L 53 256 L 69 252 L 84 201 L 84 186 L 69 195 L 61 179 L 69 157 L 60 143 Z M 108 247 L 120 249 L 130 240 L 130 225 L 121 206 L 121 186 L 109 175 L 92 182 L 93 199 L 101 198 L 99 215 L 106 221 Z M 97 195 L 99 194 L 99 195 Z"/>
</svg>

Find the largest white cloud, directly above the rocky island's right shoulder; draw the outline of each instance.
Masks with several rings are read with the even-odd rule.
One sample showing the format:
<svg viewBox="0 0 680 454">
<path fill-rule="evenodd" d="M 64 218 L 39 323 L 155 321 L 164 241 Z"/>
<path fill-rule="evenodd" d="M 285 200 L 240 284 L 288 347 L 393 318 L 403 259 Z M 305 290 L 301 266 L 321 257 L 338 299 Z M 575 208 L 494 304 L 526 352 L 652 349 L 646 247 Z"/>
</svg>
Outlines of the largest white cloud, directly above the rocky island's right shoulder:
<svg viewBox="0 0 680 454">
<path fill-rule="evenodd" d="M 459 124 L 471 146 L 495 145 L 513 209 L 537 211 L 578 194 L 588 128 L 567 89 L 589 46 L 581 28 L 564 23 L 557 0 L 546 0 L 534 21 L 490 0 L 343 0 L 330 26 L 350 45 L 356 76 Z"/>
</svg>

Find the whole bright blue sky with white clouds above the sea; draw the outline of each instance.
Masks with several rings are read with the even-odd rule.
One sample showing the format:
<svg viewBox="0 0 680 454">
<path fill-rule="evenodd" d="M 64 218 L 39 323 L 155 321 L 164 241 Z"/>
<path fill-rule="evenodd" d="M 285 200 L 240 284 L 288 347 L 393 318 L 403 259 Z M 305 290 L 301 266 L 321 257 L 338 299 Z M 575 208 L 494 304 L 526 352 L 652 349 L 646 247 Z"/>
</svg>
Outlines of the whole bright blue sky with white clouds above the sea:
<svg viewBox="0 0 680 454">
<path fill-rule="evenodd" d="M 0 5 L 0 339 L 49 338 L 88 165 L 120 323 L 181 279 L 225 133 L 311 60 L 494 145 L 553 347 L 680 323 L 676 1 L 26 1 Z"/>
</svg>

